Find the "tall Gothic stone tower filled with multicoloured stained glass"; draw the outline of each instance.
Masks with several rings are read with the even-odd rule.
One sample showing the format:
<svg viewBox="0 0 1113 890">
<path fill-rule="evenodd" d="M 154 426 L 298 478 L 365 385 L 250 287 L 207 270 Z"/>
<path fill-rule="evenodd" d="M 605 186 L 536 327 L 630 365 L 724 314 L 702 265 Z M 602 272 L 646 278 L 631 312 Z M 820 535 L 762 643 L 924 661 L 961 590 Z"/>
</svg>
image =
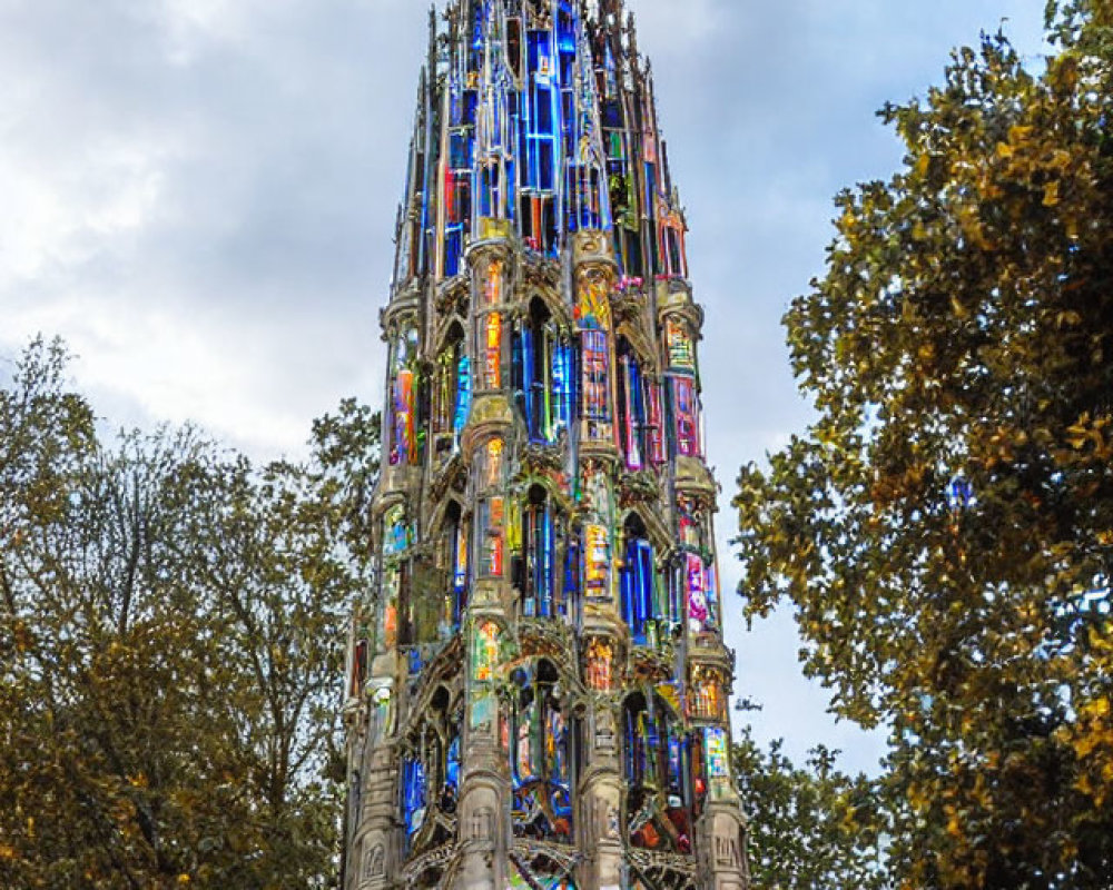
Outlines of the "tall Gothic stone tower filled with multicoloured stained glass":
<svg viewBox="0 0 1113 890">
<path fill-rule="evenodd" d="M 622 0 L 432 13 L 346 890 L 746 887 L 686 231 Z"/>
</svg>

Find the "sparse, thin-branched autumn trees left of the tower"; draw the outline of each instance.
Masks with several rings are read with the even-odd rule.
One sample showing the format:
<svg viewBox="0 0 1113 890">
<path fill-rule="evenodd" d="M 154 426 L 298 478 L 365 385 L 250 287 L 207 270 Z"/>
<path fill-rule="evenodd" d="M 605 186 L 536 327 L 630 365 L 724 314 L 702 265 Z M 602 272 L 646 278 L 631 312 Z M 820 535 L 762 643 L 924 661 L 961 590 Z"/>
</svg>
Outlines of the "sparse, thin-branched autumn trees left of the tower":
<svg viewBox="0 0 1113 890">
<path fill-rule="evenodd" d="M 65 366 L 36 343 L 0 387 L 0 884 L 329 886 L 356 492 L 321 442 L 105 446 Z M 373 421 L 334 423 L 365 468 Z"/>
</svg>

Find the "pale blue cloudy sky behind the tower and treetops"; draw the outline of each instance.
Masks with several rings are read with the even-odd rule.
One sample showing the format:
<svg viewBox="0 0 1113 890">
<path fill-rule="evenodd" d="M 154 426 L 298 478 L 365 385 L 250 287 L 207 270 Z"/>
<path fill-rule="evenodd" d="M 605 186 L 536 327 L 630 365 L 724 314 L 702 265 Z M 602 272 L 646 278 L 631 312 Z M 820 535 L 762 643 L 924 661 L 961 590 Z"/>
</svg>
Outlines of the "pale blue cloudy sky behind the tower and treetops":
<svg viewBox="0 0 1113 890">
<path fill-rule="evenodd" d="M 443 6 L 443 2 L 441 3 Z M 1002 24 L 1038 65 L 1043 0 L 628 0 L 653 61 L 723 484 L 807 423 L 779 319 L 821 273 L 831 197 L 900 161 L 874 112 Z M 377 310 L 424 58 L 422 0 L 0 0 L 0 377 L 61 335 L 111 427 L 198 422 L 264 459 L 382 399 Z M 825 714 L 789 615 L 746 633 L 762 739 L 871 768 Z"/>
</svg>

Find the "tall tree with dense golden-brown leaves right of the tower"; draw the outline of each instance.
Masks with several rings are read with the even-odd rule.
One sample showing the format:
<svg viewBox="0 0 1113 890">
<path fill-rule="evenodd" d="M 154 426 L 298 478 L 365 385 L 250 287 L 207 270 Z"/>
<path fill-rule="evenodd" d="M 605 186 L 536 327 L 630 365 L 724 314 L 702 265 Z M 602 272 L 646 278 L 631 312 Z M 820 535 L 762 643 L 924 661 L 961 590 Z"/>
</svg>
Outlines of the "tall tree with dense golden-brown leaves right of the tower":
<svg viewBox="0 0 1113 890">
<path fill-rule="evenodd" d="M 881 116 L 786 316 L 817 419 L 743 467 L 751 616 L 795 603 L 836 711 L 892 728 L 908 888 L 1113 880 L 1113 7 L 1048 6 Z"/>
</svg>

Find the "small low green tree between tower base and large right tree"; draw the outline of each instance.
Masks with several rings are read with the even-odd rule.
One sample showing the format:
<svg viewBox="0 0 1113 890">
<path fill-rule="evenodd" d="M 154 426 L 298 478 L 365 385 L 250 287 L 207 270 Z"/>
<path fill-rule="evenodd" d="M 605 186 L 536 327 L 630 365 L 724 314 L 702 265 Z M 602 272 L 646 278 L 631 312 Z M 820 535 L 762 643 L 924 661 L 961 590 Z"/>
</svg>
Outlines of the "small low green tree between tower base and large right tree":
<svg viewBox="0 0 1113 890">
<path fill-rule="evenodd" d="M 801 769 L 781 746 L 776 741 L 764 750 L 745 726 L 732 750 L 749 820 L 754 887 L 883 890 L 884 851 L 870 827 L 870 782 L 840 772 L 836 751 L 816 748 Z"/>
</svg>

